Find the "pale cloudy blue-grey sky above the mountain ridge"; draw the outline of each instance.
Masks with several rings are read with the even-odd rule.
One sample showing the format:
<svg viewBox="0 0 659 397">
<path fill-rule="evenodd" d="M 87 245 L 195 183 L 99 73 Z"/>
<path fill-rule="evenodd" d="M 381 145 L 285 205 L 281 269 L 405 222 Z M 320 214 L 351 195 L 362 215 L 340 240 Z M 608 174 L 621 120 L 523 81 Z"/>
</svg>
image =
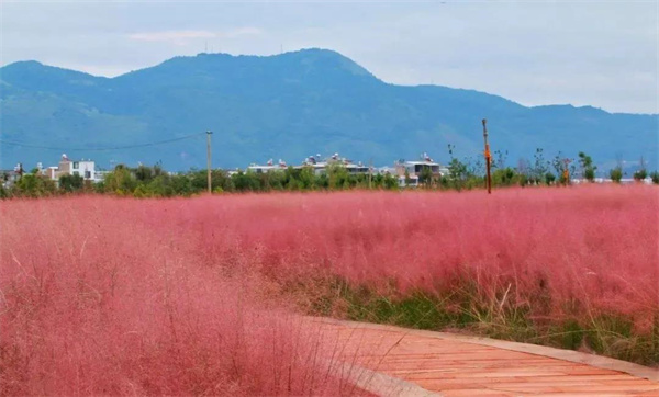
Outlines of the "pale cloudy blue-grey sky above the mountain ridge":
<svg viewBox="0 0 659 397">
<path fill-rule="evenodd" d="M 0 0 L 0 64 L 113 77 L 203 52 L 334 49 L 395 84 L 659 113 L 659 0 Z"/>
</svg>

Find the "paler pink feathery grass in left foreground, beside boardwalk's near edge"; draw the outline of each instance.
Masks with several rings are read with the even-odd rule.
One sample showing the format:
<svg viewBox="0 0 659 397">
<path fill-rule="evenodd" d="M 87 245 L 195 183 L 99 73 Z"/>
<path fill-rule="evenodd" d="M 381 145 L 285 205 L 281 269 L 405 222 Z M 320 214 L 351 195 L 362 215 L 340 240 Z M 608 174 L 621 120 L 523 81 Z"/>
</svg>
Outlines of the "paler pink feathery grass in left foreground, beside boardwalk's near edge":
<svg viewBox="0 0 659 397">
<path fill-rule="evenodd" d="M 263 310 L 250 281 L 200 263 L 194 235 L 149 228 L 144 208 L 0 204 L 0 395 L 358 392 L 321 359 L 312 328 Z"/>
</svg>

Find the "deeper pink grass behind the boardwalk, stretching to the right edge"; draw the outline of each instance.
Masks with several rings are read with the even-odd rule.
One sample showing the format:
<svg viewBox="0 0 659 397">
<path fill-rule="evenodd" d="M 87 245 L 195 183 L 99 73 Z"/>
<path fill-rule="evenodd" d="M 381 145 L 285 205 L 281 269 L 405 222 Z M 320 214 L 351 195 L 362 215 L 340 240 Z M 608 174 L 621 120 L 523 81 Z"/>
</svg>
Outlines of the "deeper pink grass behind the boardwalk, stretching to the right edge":
<svg viewBox="0 0 659 397">
<path fill-rule="evenodd" d="M 153 225 L 179 206 L 179 232 L 196 236 L 208 263 L 354 284 L 393 280 L 403 293 L 450 291 L 466 272 L 483 294 L 510 283 L 518 302 L 549 293 L 550 313 L 536 315 L 595 310 L 643 322 L 658 311 L 652 186 L 202 197 L 149 206 Z"/>
</svg>

